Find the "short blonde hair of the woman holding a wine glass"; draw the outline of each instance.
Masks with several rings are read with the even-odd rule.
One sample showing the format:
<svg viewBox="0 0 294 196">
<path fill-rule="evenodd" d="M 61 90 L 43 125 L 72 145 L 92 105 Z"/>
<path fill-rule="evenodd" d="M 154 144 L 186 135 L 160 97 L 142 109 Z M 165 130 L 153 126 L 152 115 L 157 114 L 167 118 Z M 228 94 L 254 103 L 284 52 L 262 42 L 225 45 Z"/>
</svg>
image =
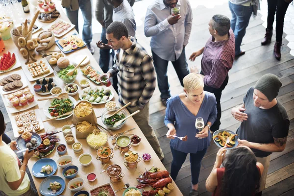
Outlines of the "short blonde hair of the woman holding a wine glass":
<svg viewBox="0 0 294 196">
<path fill-rule="evenodd" d="M 186 75 L 183 79 L 183 83 L 187 92 L 194 91 L 195 89 L 204 86 L 202 77 L 196 73 L 189 73 Z"/>
</svg>

